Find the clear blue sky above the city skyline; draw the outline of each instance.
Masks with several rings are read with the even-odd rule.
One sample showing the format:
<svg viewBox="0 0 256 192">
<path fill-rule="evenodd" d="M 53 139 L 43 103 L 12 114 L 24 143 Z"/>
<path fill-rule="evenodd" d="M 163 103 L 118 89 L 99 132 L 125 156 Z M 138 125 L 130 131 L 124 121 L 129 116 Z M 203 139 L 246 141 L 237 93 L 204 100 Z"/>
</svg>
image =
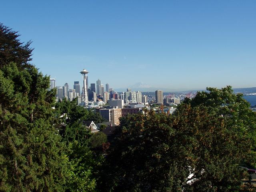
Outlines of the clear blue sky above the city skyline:
<svg viewBox="0 0 256 192">
<path fill-rule="evenodd" d="M 110 88 L 256 86 L 256 0 L 12 0 L 0 22 L 58 86 L 83 68 Z"/>
</svg>

